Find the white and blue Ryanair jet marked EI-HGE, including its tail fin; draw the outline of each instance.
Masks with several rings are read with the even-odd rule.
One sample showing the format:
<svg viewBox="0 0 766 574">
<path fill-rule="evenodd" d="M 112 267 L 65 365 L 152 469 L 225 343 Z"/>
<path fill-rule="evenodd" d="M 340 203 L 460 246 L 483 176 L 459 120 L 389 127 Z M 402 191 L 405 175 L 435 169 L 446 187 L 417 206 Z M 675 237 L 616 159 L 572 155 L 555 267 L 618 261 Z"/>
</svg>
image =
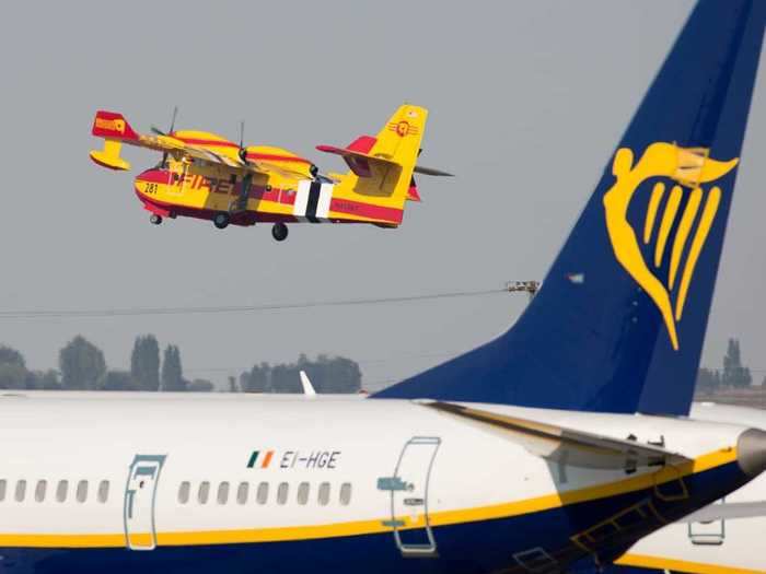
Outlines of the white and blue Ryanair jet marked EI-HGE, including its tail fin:
<svg viewBox="0 0 766 574">
<path fill-rule="evenodd" d="M 766 20 L 701 0 L 524 315 L 370 398 L 7 394 L 0 572 L 591 572 L 766 469 L 689 420 Z"/>
</svg>

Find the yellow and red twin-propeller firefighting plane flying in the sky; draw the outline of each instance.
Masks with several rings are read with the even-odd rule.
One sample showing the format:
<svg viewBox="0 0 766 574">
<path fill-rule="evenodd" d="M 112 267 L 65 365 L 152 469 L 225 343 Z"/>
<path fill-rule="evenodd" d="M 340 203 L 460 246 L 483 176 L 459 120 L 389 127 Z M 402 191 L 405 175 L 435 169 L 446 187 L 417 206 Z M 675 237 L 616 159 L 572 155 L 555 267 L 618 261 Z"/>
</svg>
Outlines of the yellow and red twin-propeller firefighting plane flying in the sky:
<svg viewBox="0 0 766 574">
<path fill-rule="evenodd" d="M 97 112 L 93 136 L 104 147 L 91 152 L 103 167 L 125 171 L 123 143 L 162 152 L 162 161 L 136 177 L 136 194 L 156 225 L 163 218 L 211 220 L 216 227 L 269 222 L 278 242 L 288 223 L 370 223 L 396 227 L 407 200 L 420 197 L 414 173 L 445 172 L 416 165 L 428 110 L 405 104 L 376 137 L 361 136 L 346 148 L 317 145 L 343 156 L 347 174 L 321 175 L 309 160 L 280 148 L 234 143 L 205 131 L 136 132 L 121 114 Z"/>
</svg>

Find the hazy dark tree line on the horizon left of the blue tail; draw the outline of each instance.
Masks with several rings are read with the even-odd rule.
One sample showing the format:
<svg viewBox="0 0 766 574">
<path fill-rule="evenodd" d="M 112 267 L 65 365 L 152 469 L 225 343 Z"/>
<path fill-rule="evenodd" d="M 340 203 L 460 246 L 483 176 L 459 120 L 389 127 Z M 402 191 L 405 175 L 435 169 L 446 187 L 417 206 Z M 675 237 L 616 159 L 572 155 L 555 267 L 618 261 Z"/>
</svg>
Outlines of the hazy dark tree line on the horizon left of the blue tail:
<svg viewBox="0 0 766 574">
<path fill-rule="evenodd" d="M 229 377 L 225 390 L 302 393 L 300 371 L 309 374 L 317 393 L 361 389 L 361 370 L 350 359 L 321 354 L 310 360 L 301 354 L 294 363 L 255 364 L 239 377 Z M 136 338 L 128 371 L 109 370 L 102 350 L 80 335 L 59 351 L 58 370 L 30 370 L 20 351 L 0 344 L 0 389 L 210 393 L 214 388 L 208 379 L 184 377 L 178 347 L 167 344 L 160 353 L 153 335 Z"/>
</svg>

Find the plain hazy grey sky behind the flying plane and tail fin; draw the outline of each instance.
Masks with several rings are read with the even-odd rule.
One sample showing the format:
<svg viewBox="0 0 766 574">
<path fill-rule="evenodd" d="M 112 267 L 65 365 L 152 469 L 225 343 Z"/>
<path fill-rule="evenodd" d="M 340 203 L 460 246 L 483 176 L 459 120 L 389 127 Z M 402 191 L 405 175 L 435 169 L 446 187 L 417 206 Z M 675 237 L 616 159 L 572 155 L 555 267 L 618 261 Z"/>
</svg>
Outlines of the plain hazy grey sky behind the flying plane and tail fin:
<svg viewBox="0 0 766 574">
<path fill-rule="evenodd" d="M 35 2 L 0 9 L 0 311 L 259 305 L 492 289 L 542 279 L 692 1 Z M 741 337 L 766 368 L 762 224 L 766 73 L 740 168 L 704 363 Z M 683 86 L 678 86 L 683 90 Z M 314 151 L 374 133 L 404 101 L 430 109 L 423 202 L 399 230 L 176 220 L 159 227 L 128 174 L 88 159 L 98 108 Z M 552 162 L 550 159 L 556 161 Z M 299 352 L 358 360 L 376 388 L 507 328 L 524 295 L 242 315 L 2 320 L 34 368 L 77 333 L 124 368 L 136 335 L 181 345 L 217 382 Z M 756 373 L 761 379 L 766 372 Z"/>
</svg>

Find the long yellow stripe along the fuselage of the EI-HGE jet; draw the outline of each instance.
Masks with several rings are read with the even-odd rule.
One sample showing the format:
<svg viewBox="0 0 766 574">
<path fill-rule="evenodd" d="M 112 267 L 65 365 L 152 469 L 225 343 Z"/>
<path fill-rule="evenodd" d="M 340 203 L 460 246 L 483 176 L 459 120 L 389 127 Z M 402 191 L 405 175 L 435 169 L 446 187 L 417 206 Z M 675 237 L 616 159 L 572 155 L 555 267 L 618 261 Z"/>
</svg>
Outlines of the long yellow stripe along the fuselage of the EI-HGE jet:
<svg viewBox="0 0 766 574">
<path fill-rule="evenodd" d="M 663 484 L 680 477 L 704 472 L 736 460 L 736 448 L 728 447 L 703 455 L 676 468 L 663 468 L 657 472 L 623 479 L 585 489 L 546 494 L 524 501 L 494 504 L 476 508 L 442 511 L 429 515 L 431 526 L 448 526 L 463 523 L 510 518 L 523 514 L 544 512 L 580 502 L 607 499 Z M 386 520 L 390 517 L 385 517 Z M 200 530 L 158 532 L 158 546 L 202 546 L 246 542 L 280 542 L 338 538 L 380 532 L 390 532 L 383 518 L 310 526 L 285 526 L 276 528 L 247 528 L 235 530 Z M 423 519 L 407 523 L 402 529 L 422 528 Z M 114 548 L 125 546 L 124 534 L 59 535 L 59 534 L 0 534 L 0 548 Z"/>
</svg>

